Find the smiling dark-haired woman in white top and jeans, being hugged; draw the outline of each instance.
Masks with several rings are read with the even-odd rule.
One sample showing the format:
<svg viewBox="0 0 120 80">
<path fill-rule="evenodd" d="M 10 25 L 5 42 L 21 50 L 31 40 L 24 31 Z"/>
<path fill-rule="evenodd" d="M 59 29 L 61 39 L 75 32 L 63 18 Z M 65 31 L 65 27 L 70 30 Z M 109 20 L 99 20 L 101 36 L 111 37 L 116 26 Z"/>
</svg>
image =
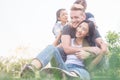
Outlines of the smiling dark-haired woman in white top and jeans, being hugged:
<svg viewBox="0 0 120 80">
<path fill-rule="evenodd" d="M 73 47 L 82 47 L 84 39 L 89 42 L 89 45 L 94 47 L 95 43 L 93 41 L 95 35 L 95 26 L 94 23 L 89 20 L 84 20 L 76 29 L 76 38 L 71 39 L 71 46 Z M 89 50 L 88 50 L 89 51 Z M 92 51 L 91 51 L 92 52 Z M 100 53 L 93 53 L 93 55 L 98 55 Z M 90 55 L 88 53 L 88 55 Z M 67 55 L 67 60 L 65 62 L 68 70 L 70 72 L 75 72 L 82 80 L 90 80 L 89 73 L 85 70 L 84 60 L 79 53 Z"/>
</svg>

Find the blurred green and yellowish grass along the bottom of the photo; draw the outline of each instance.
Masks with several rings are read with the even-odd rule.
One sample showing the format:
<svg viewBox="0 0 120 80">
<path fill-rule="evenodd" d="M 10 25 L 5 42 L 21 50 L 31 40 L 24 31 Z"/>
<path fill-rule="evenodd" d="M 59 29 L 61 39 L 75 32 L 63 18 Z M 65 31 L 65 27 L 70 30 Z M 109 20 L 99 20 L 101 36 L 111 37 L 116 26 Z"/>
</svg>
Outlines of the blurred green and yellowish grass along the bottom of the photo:
<svg viewBox="0 0 120 80">
<path fill-rule="evenodd" d="M 113 58 L 114 57 L 114 58 Z M 92 80 L 120 80 L 120 67 L 119 62 L 116 61 L 117 56 L 113 56 L 110 59 L 110 68 L 105 69 L 98 69 L 96 68 L 95 71 L 91 72 Z M 118 58 L 119 59 L 119 58 Z M 46 79 L 40 78 L 39 71 L 36 71 L 36 77 L 35 78 L 20 78 L 20 70 L 22 66 L 26 63 L 29 63 L 31 59 L 19 59 L 11 62 L 11 58 L 0 58 L 0 80 L 61 80 L 61 78 L 58 78 L 55 75 L 55 79 L 50 79 L 50 77 L 47 77 L 46 74 L 44 77 Z M 114 64 L 114 66 L 112 65 Z M 116 66 L 117 65 L 117 66 Z"/>
</svg>

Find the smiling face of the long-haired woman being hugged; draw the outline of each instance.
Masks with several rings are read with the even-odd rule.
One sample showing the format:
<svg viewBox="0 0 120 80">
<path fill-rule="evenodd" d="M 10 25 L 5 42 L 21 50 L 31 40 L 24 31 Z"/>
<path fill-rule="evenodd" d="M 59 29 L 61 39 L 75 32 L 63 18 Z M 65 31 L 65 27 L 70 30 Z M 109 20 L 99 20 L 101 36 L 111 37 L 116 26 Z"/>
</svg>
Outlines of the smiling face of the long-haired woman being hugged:
<svg viewBox="0 0 120 80">
<path fill-rule="evenodd" d="M 76 29 L 76 37 L 85 38 L 86 36 L 88 36 L 88 32 L 89 26 L 87 23 L 83 22 Z"/>
</svg>

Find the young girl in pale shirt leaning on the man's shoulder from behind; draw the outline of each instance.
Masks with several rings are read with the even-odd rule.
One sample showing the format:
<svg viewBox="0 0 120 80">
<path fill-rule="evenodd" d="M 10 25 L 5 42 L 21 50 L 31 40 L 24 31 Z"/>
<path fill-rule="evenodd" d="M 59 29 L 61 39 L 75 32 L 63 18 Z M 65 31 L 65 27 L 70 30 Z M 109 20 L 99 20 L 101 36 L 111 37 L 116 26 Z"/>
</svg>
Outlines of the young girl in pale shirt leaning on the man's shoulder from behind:
<svg viewBox="0 0 120 80">
<path fill-rule="evenodd" d="M 55 35 L 55 41 L 53 42 L 54 46 L 57 46 L 61 41 L 61 32 L 63 27 L 67 24 L 68 22 L 68 13 L 66 11 L 66 9 L 59 9 L 56 12 L 56 23 L 53 27 L 53 34 Z"/>
</svg>

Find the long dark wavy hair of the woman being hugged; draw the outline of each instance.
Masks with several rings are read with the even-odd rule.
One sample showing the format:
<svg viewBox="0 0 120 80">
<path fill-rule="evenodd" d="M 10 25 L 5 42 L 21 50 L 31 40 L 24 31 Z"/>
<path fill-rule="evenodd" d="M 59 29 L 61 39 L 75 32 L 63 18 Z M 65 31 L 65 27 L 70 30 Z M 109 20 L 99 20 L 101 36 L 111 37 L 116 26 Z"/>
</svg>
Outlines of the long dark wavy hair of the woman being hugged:
<svg viewBox="0 0 120 80">
<path fill-rule="evenodd" d="M 83 20 L 81 23 L 84 23 L 84 22 L 87 23 L 88 27 L 89 27 L 88 36 L 86 36 L 85 39 L 88 41 L 90 46 L 95 46 L 95 40 L 94 40 L 94 37 L 95 37 L 95 25 L 90 20 Z"/>
</svg>

